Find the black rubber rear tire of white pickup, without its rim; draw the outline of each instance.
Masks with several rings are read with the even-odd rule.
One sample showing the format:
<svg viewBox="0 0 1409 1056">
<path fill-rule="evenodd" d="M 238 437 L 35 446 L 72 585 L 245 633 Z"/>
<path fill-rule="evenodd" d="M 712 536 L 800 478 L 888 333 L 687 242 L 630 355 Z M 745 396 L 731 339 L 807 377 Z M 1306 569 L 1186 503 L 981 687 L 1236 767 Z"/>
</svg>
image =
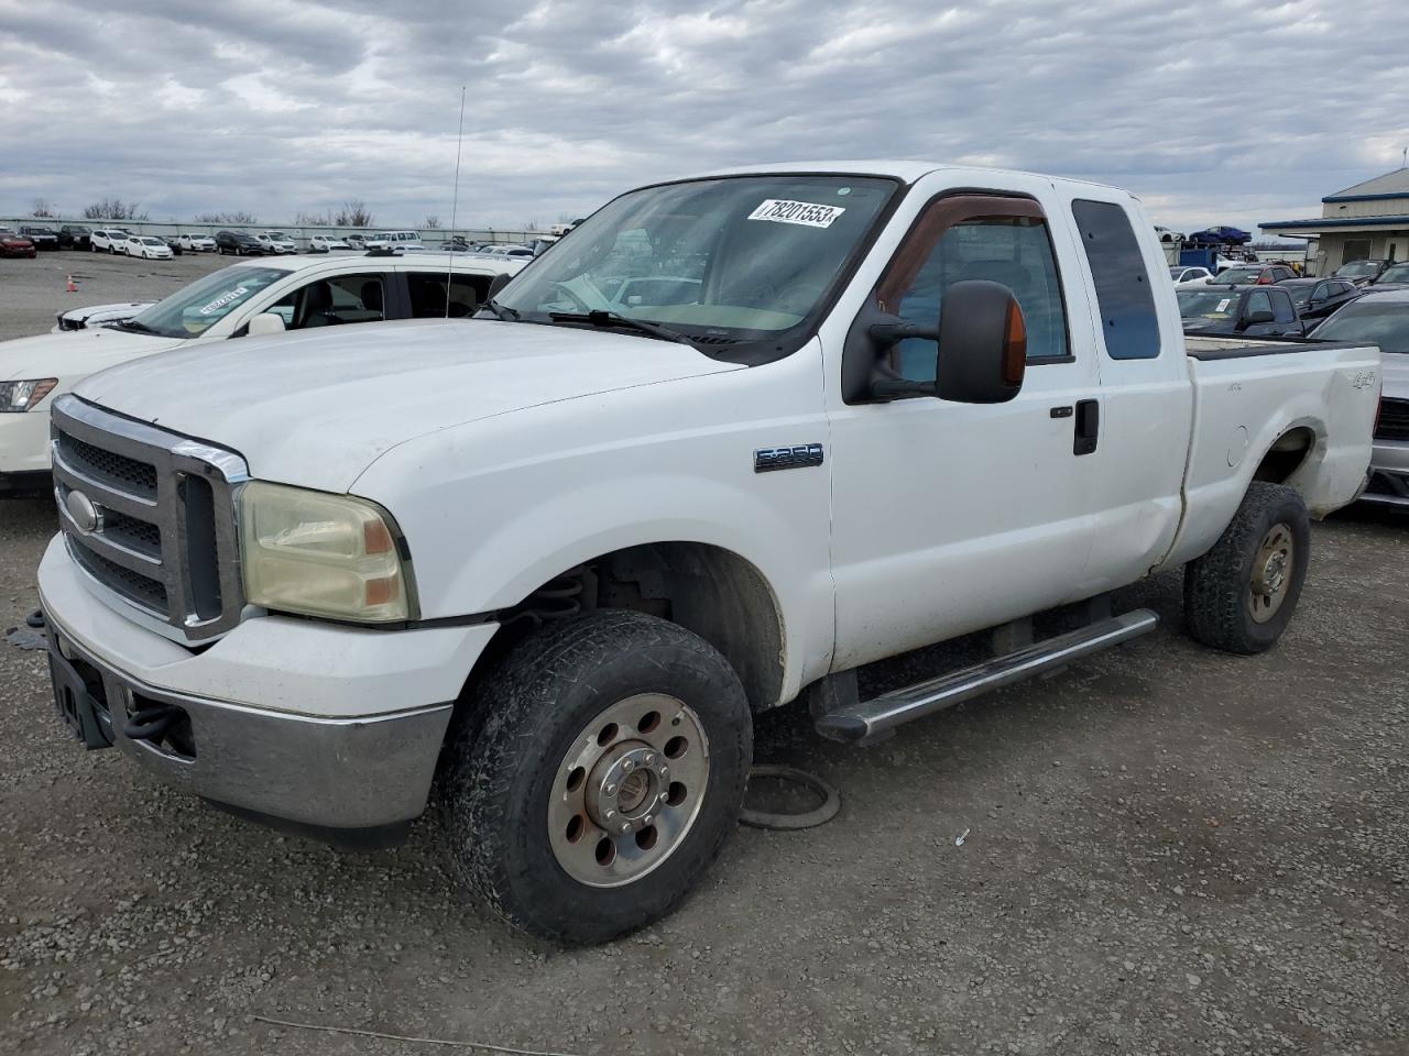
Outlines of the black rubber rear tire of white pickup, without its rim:
<svg viewBox="0 0 1409 1056">
<path fill-rule="evenodd" d="M 1291 569 L 1278 610 L 1253 618 L 1248 601 L 1254 558 L 1267 534 L 1286 525 L 1293 541 Z M 1208 553 L 1184 570 L 1184 612 L 1195 641 L 1230 653 L 1271 649 L 1296 610 L 1310 560 L 1312 529 L 1306 504 L 1285 484 L 1253 483 L 1233 521 Z"/>
</svg>

